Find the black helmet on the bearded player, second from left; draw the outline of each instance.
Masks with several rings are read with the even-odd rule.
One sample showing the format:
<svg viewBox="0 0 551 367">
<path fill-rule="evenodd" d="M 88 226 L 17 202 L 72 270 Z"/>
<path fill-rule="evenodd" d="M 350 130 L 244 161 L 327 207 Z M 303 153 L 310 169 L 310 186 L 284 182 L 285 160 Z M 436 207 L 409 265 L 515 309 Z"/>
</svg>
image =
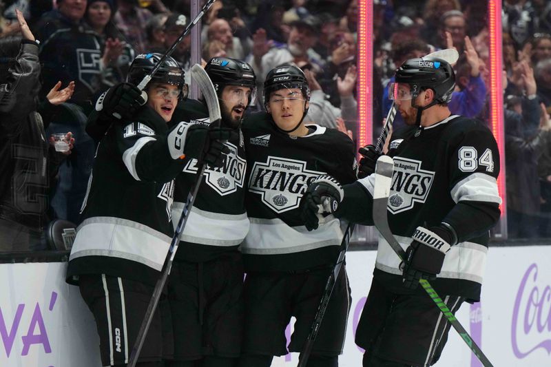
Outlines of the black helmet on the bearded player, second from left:
<svg viewBox="0 0 551 367">
<path fill-rule="evenodd" d="M 205 71 L 211 78 L 216 92 L 222 92 L 226 85 L 239 85 L 251 88 L 249 105 L 256 101 L 256 75 L 245 61 L 229 57 L 213 57 L 207 62 Z"/>
</svg>

